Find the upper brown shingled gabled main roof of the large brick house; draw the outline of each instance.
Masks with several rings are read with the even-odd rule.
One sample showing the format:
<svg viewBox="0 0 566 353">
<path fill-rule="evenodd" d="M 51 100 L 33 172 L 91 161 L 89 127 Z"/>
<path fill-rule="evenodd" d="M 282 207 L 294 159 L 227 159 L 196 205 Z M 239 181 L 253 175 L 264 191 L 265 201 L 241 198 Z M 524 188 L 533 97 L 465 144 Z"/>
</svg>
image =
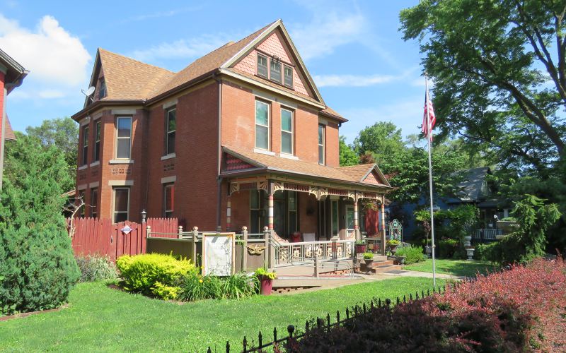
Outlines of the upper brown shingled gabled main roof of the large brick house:
<svg viewBox="0 0 566 353">
<path fill-rule="evenodd" d="M 304 74 L 307 85 L 313 92 L 313 95 L 315 95 L 315 98 L 302 95 L 294 90 L 289 90 L 282 85 L 276 85 L 269 80 L 263 80 L 262 78 L 241 73 L 231 67 L 239 59 L 253 50 L 258 43 L 265 40 L 265 38 L 276 30 L 279 30 L 284 37 L 291 54 L 297 62 L 297 68 Z M 306 70 L 306 66 L 304 66 L 299 52 L 296 50 L 296 47 L 289 37 L 289 33 L 284 28 L 282 20 L 276 20 L 238 42 L 224 44 L 222 47 L 193 61 L 192 64 L 183 68 L 183 70 L 178 73 L 173 73 L 165 68 L 145 64 L 127 56 L 98 48 L 95 66 L 91 75 L 92 86 L 96 86 L 100 69 L 102 69 L 104 73 L 107 91 L 106 97 L 102 99 L 103 102 L 106 101 L 110 103 L 124 100 L 129 102 L 139 101 L 151 103 L 152 101 L 159 100 L 162 97 L 166 97 L 178 90 L 195 84 L 200 79 L 208 78 L 215 73 L 237 73 L 240 76 L 246 76 L 248 79 L 255 80 L 256 83 L 263 83 L 264 85 L 270 86 L 270 88 L 282 90 L 291 95 L 300 97 L 304 101 L 315 104 L 318 107 L 325 107 L 325 109 L 321 111 L 321 114 L 336 119 L 337 121 L 347 121 L 347 119 L 344 119 L 333 109 L 326 107 L 320 92 L 318 92 L 318 88 L 316 88 L 314 80 Z M 87 103 L 88 99 L 85 100 L 85 108 L 88 105 Z M 75 114 L 74 117 L 78 114 Z"/>
</svg>

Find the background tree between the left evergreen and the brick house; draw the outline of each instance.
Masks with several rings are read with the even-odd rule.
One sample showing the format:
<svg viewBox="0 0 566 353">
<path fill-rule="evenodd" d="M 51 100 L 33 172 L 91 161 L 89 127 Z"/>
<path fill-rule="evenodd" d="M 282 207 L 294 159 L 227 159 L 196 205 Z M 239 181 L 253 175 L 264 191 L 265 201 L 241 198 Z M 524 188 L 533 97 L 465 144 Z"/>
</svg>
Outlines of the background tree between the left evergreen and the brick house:
<svg viewBox="0 0 566 353">
<path fill-rule="evenodd" d="M 76 168 L 76 156 L 79 143 L 79 126 L 69 118 L 44 120 L 40 126 L 25 128 L 28 136 L 38 138 L 44 147 L 55 146 L 64 154 L 65 161 Z"/>
</svg>

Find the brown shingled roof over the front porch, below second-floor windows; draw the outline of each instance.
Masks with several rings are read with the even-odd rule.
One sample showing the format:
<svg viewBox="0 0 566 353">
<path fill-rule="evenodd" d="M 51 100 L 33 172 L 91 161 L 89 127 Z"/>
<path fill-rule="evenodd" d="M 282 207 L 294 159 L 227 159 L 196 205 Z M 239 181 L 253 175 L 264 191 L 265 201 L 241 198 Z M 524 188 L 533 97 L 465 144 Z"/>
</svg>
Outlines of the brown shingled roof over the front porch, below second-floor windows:
<svg viewBox="0 0 566 353">
<path fill-rule="evenodd" d="M 234 148 L 232 146 L 224 146 L 224 152 L 233 155 L 234 157 L 243 158 L 246 162 L 254 164 L 258 167 L 265 167 L 269 170 L 276 172 L 289 172 L 291 174 L 304 174 L 311 177 L 318 177 L 324 179 L 334 179 L 337 181 L 345 181 L 347 183 L 357 183 L 367 186 L 375 186 L 374 184 L 366 184 L 360 182 L 360 178 L 355 178 L 350 175 L 352 169 L 345 169 L 342 167 L 328 167 L 318 163 L 306 162 L 304 160 L 291 160 L 289 158 L 276 157 L 275 155 L 265 155 L 263 153 L 251 152 L 242 148 Z M 369 171 L 370 167 L 375 164 L 363 164 L 362 167 Z M 358 166 L 357 166 L 358 167 Z"/>
</svg>

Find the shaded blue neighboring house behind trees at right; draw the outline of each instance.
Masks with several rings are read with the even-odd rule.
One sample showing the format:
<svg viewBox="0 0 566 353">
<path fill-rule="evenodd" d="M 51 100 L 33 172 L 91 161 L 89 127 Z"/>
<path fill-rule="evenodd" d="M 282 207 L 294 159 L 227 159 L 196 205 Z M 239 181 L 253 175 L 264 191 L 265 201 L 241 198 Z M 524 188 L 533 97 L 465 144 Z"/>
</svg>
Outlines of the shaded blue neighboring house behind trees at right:
<svg viewBox="0 0 566 353">
<path fill-rule="evenodd" d="M 495 215 L 499 219 L 509 217 L 509 203 L 497 198 L 497 185 L 490 181 L 487 176 L 492 174 L 489 167 L 478 167 L 466 169 L 458 173 L 463 174 L 463 181 L 457 185 L 459 193 L 451 198 L 434 198 L 434 210 L 448 210 L 459 205 L 475 205 L 480 209 L 478 229 L 473 232 L 474 239 L 492 240 L 500 231 L 495 225 Z M 403 238 L 411 239 L 413 232 L 417 229 L 415 221 L 415 210 L 427 208 L 429 205 L 428 195 L 422 196 L 418 203 L 405 204 L 403 206 L 391 203 L 386 208 L 388 220 L 398 218 L 403 224 Z"/>
</svg>

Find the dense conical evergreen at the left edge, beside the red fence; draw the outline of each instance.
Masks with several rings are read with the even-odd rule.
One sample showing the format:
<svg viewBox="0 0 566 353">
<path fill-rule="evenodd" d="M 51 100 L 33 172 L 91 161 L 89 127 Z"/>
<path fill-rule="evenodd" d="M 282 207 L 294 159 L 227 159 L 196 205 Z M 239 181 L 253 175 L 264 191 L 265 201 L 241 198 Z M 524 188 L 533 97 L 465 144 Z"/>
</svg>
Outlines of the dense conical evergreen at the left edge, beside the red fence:
<svg viewBox="0 0 566 353">
<path fill-rule="evenodd" d="M 52 309 L 79 278 L 62 215 L 61 152 L 18 133 L 7 145 L 0 198 L 0 314 Z"/>
</svg>

